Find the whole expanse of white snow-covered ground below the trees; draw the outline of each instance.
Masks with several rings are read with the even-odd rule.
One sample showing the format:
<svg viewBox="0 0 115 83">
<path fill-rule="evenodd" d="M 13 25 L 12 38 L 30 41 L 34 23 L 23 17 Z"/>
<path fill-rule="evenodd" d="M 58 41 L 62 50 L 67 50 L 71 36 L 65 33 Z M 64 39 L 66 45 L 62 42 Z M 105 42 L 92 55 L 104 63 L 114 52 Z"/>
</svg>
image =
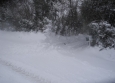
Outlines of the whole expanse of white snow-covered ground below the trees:
<svg viewBox="0 0 115 83">
<path fill-rule="evenodd" d="M 0 83 L 115 83 L 115 50 L 84 35 L 0 31 Z"/>
</svg>

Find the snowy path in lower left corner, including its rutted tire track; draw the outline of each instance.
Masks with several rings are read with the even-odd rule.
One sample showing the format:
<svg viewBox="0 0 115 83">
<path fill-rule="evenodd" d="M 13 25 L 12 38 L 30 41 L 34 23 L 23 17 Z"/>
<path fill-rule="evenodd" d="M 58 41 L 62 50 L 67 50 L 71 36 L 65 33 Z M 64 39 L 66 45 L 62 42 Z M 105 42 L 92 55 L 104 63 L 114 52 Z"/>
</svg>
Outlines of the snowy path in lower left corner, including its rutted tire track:
<svg viewBox="0 0 115 83">
<path fill-rule="evenodd" d="M 45 79 L 35 75 L 34 73 L 28 72 L 25 69 L 23 69 L 22 67 L 13 65 L 12 63 L 7 62 L 5 60 L 0 59 L 0 66 L 1 66 L 0 71 L 2 71 L 2 72 L 0 72 L 0 75 L 1 75 L 0 77 L 4 77 L 4 79 L 2 78 L 2 80 L 0 80 L 0 83 L 22 83 L 22 81 L 21 81 L 22 79 L 20 81 L 17 79 L 13 79 L 13 77 L 19 76 L 19 75 L 21 75 L 20 76 L 21 78 L 23 77 L 23 81 L 24 80 L 26 81 L 25 83 L 50 83 L 50 82 L 48 82 L 48 80 L 46 81 Z M 7 75 L 5 75 L 5 73 L 3 71 L 5 73 L 7 73 Z M 13 74 L 9 75 L 10 72 Z M 11 77 L 11 76 L 13 76 L 13 77 Z M 9 79 L 9 78 L 11 78 L 11 79 Z M 17 78 L 17 77 L 15 77 L 15 78 Z M 9 82 L 9 81 L 11 81 L 11 82 Z"/>
</svg>

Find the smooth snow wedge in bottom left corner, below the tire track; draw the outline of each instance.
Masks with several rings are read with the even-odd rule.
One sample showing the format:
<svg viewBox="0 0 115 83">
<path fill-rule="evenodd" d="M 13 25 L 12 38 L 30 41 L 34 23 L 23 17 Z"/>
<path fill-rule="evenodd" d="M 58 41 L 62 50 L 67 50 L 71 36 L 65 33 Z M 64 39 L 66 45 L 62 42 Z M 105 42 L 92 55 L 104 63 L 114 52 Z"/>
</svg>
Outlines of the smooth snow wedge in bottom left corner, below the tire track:
<svg viewBox="0 0 115 83">
<path fill-rule="evenodd" d="M 22 83 L 22 80 L 23 83 L 31 83 L 28 79 L 0 64 L 0 83 Z"/>
</svg>

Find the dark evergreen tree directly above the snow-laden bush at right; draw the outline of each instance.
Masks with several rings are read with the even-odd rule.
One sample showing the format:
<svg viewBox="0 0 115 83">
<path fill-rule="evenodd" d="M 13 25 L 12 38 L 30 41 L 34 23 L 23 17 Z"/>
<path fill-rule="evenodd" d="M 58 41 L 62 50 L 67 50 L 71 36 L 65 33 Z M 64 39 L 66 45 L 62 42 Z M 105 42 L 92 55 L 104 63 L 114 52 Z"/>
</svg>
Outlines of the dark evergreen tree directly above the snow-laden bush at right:
<svg viewBox="0 0 115 83">
<path fill-rule="evenodd" d="M 81 15 L 85 24 L 95 20 L 105 20 L 114 24 L 115 20 L 114 0 L 84 0 L 81 7 Z"/>
</svg>

